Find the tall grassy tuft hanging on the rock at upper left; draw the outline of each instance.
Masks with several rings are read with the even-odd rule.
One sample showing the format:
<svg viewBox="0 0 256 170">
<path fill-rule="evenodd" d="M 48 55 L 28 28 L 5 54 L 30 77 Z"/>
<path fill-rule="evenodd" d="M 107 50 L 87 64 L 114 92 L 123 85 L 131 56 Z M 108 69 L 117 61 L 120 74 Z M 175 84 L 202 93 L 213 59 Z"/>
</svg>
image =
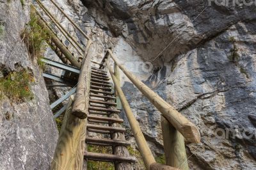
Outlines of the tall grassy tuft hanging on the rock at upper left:
<svg viewBox="0 0 256 170">
<path fill-rule="evenodd" d="M 47 31 L 37 24 L 36 16 L 31 14 L 30 17 L 31 20 L 26 24 L 26 27 L 22 31 L 20 37 L 26 44 L 31 58 L 36 58 L 37 60 L 38 58 L 42 58 L 44 54 L 47 47 L 46 40 L 48 39 L 48 36 Z"/>
</svg>

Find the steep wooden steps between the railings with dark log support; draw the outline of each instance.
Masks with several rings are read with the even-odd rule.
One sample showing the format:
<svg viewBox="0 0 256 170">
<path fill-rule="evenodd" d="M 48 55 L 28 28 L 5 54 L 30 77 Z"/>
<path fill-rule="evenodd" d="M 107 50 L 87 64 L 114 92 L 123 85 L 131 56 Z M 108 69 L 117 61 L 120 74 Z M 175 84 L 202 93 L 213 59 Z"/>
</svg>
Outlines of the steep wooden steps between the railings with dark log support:
<svg viewBox="0 0 256 170">
<path fill-rule="evenodd" d="M 88 146 L 111 146 L 113 154 L 86 150 L 84 161 L 113 162 L 115 167 L 118 164 L 123 164 L 124 167 L 131 166 L 130 163 L 136 161 L 136 158 L 129 156 L 129 151 L 126 148 L 130 146 L 130 143 L 125 141 L 125 128 L 120 124 L 124 120 L 118 116 L 120 110 L 116 109 L 115 99 L 107 72 L 92 67 L 90 106 L 86 123 L 86 148 Z M 98 135 L 95 136 L 95 133 Z"/>
</svg>

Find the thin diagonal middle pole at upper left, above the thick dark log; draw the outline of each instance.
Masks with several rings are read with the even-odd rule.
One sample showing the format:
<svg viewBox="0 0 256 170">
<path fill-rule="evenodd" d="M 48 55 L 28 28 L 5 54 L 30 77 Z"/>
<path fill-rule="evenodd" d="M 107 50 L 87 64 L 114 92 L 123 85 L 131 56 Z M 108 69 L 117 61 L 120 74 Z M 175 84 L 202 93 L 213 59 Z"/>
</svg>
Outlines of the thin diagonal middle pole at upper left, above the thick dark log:
<svg viewBox="0 0 256 170">
<path fill-rule="evenodd" d="M 51 12 L 49 12 L 49 10 L 47 10 L 47 8 L 44 6 L 44 4 L 42 4 L 40 2 L 40 0 L 36 0 L 36 2 L 39 4 L 39 6 L 42 8 L 42 10 L 44 10 L 45 14 L 49 17 L 49 19 L 52 20 L 52 22 L 54 22 L 54 24 L 58 27 L 58 29 L 61 31 L 61 33 L 63 33 L 63 31 L 67 34 L 67 36 L 74 42 L 76 43 L 77 47 L 79 47 L 79 49 L 81 49 L 83 52 L 85 52 L 85 50 L 83 49 L 83 47 L 81 47 L 81 45 L 74 39 L 74 37 L 72 35 L 70 35 L 70 33 L 68 33 L 68 31 L 61 26 L 60 22 L 58 22 L 58 20 L 55 19 L 55 17 L 51 14 Z M 67 36 L 63 33 L 63 35 L 67 38 Z M 69 42 L 71 42 L 68 39 Z"/>
</svg>

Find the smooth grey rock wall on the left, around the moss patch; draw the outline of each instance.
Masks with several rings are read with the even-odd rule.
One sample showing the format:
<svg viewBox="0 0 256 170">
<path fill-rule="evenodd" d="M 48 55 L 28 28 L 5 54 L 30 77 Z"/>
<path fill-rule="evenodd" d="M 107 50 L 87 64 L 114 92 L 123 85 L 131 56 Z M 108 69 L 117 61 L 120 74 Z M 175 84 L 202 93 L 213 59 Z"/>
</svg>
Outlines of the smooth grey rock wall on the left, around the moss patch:
<svg viewBox="0 0 256 170">
<path fill-rule="evenodd" d="M 33 74 L 33 99 L 0 101 L 0 169 L 49 169 L 58 139 L 49 98 L 36 61 L 20 38 L 29 22 L 29 1 L 0 3 L 0 77 L 27 69 Z"/>
</svg>

